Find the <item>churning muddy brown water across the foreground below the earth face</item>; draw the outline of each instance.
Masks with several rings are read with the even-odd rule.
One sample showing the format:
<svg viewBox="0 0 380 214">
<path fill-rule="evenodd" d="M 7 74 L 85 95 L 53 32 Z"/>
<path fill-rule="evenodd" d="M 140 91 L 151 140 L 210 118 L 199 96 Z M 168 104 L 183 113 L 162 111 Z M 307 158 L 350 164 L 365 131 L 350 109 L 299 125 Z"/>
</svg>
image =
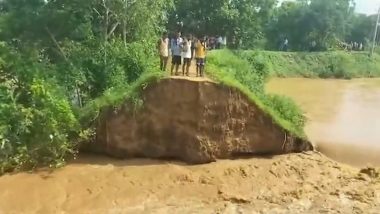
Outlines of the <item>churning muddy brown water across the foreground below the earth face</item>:
<svg viewBox="0 0 380 214">
<path fill-rule="evenodd" d="M 379 171 L 315 153 L 189 166 L 82 156 L 56 171 L 0 178 L 0 213 L 365 213 Z"/>
</svg>

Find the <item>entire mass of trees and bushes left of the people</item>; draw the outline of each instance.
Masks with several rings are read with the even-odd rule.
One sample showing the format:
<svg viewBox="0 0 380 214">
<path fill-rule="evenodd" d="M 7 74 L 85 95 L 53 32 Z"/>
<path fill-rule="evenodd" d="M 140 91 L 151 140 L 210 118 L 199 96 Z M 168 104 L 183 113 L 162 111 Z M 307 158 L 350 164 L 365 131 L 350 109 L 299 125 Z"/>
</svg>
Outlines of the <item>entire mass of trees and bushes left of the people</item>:
<svg viewBox="0 0 380 214">
<path fill-rule="evenodd" d="M 152 47 L 171 7 L 167 0 L 1 1 L 0 174 L 73 155 L 92 134 L 83 108 L 157 71 Z"/>
</svg>

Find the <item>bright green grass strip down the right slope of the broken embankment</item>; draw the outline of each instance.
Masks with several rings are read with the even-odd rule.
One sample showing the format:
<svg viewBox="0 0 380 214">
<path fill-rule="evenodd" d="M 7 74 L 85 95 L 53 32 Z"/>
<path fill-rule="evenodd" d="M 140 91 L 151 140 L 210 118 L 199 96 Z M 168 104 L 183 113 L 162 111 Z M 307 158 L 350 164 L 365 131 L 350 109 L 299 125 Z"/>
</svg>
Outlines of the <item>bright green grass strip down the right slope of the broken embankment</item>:
<svg viewBox="0 0 380 214">
<path fill-rule="evenodd" d="M 305 117 L 298 106 L 284 96 L 269 95 L 264 87 L 269 69 L 264 61 L 244 60 L 228 50 L 212 51 L 207 57 L 208 76 L 221 84 L 237 88 L 273 121 L 290 134 L 306 139 Z"/>
</svg>

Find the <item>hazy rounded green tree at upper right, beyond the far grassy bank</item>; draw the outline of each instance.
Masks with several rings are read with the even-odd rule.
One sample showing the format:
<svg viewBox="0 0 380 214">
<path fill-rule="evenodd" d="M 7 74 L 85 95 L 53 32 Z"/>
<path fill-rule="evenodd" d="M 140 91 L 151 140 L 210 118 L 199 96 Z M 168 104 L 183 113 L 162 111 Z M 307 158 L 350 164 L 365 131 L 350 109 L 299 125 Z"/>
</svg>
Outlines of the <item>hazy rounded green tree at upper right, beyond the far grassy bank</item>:
<svg viewBox="0 0 380 214">
<path fill-rule="evenodd" d="M 353 14 L 352 0 L 285 2 L 277 9 L 267 36 L 275 41 L 288 37 L 294 50 L 307 50 L 312 42 L 319 50 L 327 50 L 345 39 Z"/>
</svg>

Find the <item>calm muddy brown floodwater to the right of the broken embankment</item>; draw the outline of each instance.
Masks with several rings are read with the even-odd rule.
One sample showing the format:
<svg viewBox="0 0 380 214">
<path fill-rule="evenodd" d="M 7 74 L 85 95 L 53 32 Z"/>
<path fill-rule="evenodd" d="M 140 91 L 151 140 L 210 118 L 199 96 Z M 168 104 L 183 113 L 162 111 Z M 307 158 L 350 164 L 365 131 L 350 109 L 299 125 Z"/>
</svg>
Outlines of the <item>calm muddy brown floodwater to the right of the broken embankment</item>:
<svg viewBox="0 0 380 214">
<path fill-rule="evenodd" d="M 293 98 L 321 152 L 355 166 L 380 166 L 380 79 L 272 79 L 270 93 Z"/>
</svg>

